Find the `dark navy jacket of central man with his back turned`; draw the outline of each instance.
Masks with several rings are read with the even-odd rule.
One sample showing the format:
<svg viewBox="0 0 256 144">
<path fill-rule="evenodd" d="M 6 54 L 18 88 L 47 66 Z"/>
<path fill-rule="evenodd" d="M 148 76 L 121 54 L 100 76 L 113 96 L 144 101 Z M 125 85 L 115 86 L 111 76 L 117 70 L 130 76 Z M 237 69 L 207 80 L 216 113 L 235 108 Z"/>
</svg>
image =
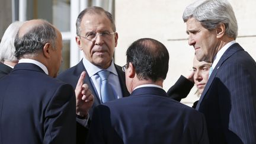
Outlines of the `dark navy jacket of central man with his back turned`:
<svg viewBox="0 0 256 144">
<path fill-rule="evenodd" d="M 137 88 L 130 97 L 95 107 L 88 140 L 97 144 L 209 143 L 203 114 L 155 87 Z"/>
</svg>

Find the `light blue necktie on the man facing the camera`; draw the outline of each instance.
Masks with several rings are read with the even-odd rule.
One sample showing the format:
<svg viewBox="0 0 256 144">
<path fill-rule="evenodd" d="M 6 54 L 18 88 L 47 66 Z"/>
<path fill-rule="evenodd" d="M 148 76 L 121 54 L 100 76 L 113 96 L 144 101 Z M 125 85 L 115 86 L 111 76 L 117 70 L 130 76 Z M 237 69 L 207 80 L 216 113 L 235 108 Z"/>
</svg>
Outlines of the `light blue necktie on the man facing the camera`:
<svg viewBox="0 0 256 144">
<path fill-rule="evenodd" d="M 110 74 L 109 71 L 100 71 L 100 72 L 98 72 L 98 75 L 101 78 L 100 92 L 101 92 L 101 101 L 103 103 L 115 99 L 113 90 L 112 90 L 110 84 L 108 84 L 108 75 L 109 74 Z"/>
</svg>

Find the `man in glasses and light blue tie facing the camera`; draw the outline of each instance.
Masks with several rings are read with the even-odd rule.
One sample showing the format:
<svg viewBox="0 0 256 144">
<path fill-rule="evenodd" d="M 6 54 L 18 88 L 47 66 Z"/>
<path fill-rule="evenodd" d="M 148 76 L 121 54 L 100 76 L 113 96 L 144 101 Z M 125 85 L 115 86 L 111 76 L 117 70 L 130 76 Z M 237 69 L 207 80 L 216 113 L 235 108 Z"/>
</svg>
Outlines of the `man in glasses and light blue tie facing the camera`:
<svg viewBox="0 0 256 144">
<path fill-rule="evenodd" d="M 112 15 L 100 7 L 84 9 L 76 20 L 76 43 L 84 52 L 84 58 L 77 65 L 60 73 L 58 79 L 68 82 L 74 88 L 82 71 L 86 72 L 84 82 L 88 84 L 95 95 L 94 105 L 89 110 L 89 117 L 95 105 L 104 103 L 104 94 L 101 94 L 101 78 L 98 72 L 108 71 L 108 83 L 113 91 L 113 99 L 129 95 L 125 85 L 124 72 L 114 64 L 114 47 L 117 46 L 118 34 Z M 77 143 L 85 143 L 87 136 L 86 123 L 81 121 L 88 118 L 87 114 L 78 115 Z"/>
</svg>

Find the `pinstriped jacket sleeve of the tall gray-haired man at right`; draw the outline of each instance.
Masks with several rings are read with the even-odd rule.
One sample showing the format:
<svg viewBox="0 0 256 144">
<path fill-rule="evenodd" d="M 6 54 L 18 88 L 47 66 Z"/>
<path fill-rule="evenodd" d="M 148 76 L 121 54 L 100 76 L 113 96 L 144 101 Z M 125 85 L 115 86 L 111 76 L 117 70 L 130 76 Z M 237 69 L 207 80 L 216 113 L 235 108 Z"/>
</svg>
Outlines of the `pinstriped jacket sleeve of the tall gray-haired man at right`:
<svg viewBox="0 0 256 144">
<path fill-rule="evenodd" d="M 228 143 L 256 143 L 255 68 L 229 64 L 219 82 L 219 107 Z"/>
</svg>

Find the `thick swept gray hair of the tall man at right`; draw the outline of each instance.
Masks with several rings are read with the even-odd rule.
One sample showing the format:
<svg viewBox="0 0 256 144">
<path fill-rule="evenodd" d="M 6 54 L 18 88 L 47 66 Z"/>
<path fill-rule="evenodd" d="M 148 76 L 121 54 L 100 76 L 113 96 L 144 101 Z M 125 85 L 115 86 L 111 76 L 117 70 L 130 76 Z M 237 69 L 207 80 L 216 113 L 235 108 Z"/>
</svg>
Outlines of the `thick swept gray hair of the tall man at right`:
<svg viewBox="0 0 256 144">
<path fill-rule="evenodd" d="M 183 12 L 183 21 L 196 18 L 207 30 L 213 30 L 223 23 L 226 27 L 225 34 L 236 39 L 238 24 L 231 4 L 226 0 L 196 1 L 188 5 Z"/>
</svg>

